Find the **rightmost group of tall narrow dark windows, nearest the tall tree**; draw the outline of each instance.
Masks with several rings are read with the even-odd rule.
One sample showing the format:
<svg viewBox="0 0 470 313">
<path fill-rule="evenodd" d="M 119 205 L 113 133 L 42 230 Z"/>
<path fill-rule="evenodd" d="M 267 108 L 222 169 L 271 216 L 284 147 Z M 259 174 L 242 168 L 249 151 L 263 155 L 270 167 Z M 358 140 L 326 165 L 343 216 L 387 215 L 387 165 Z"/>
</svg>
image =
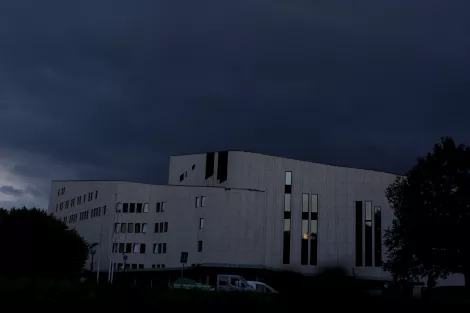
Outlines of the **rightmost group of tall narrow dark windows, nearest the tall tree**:
<svg viewBox="0 0 470 313">
<path fill-rule="evenodd" d="M 374 206 L 372 211 L 372 201 L 365 201 L 365 216 L 362 212 L 363 202 L 356 201 L 356 266 L 372 266 L 374 257 L 375 266 L 380 267 L 382 266 L 382 210 L 380 206 Z"/>
</svg>

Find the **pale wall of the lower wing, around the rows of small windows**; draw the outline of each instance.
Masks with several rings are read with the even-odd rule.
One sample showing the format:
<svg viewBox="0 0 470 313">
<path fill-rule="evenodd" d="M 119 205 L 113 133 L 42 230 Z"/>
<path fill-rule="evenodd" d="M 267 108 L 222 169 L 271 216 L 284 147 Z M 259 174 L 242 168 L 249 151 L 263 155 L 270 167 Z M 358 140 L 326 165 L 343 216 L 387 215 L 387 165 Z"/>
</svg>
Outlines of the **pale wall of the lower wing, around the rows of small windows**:
<svg viewBox="0 0 470 313">
<path fill-rule="evenodd" d="M 55 197 L 57 189 L 66 187 L 66 193 Z M 55 205 L 65 200 L 99 190 L 91 202 L 55 211 Z M 196 197 L 205 197 L 204 207 L 195 207 Z M 129 182 L 53 182 L 49 211 L 61 219 L 72 214 L 90 211 L 97 206 L 107 206 L 107 214 L 99 218 L 77 220 L 68 224 L 89 243 L 101 242 L 97 247 L 94 268 L 108 268 L 110 258 L 124 263 L 121 253 L 111 254 L 112 243 L 140 243 L 146 252 L 128 253 L 127 264 L 153 264 L 166 267 L 180 266 L 181 252 L 188 252 L 188 264 L 262 264 L 265 248 L 264 193 L 215 187 L 185 187 L 147 185 Z M 156 212 L 156 203 L 165 202 L 164 212 Z M 148 203 L 148 212 L 117 213 L 116 203 Z M 204 218 L 204 228 L 199 220 Z M 168 232 L 155 233 L 155 223 L 168 222 Z M 147 223 L 146 233 L 114 233 L 115 223 Z M 101 237 L 100 237 L 101 233 Z M 101 238 L 101 241 L 100 241 Z M 198 241 L 203 241 L 203 251 L 198 252 Z M 154 254 L 153 245 L 166 243 L 165 254 Z M 101 247 L 101 249 L 100 249 Z M 89 263 L 87 264 L 89 268 Z"/>
</svg>

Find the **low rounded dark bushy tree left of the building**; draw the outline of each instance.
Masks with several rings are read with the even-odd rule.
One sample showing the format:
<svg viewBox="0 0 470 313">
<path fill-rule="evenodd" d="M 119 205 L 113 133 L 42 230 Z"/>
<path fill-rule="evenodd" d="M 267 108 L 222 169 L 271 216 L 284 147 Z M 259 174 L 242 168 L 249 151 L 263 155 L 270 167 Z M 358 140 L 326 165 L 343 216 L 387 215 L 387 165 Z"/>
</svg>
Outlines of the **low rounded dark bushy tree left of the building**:
<svg viewBox="0 0 470 313">
<path fill-rule="evenodd" d="M 75 230 L 38 209 L 0 210 L 0 247 L 4 276 L 71 278 L 88 255 Z"/>
</svg>

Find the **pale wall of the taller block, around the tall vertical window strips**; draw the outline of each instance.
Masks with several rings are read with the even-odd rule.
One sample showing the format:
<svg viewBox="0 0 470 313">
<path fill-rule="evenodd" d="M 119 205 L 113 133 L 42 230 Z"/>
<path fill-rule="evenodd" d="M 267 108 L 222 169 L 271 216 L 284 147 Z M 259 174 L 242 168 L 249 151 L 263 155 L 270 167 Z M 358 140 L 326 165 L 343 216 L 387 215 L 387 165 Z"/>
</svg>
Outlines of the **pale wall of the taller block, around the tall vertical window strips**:
<svg viewBox="0 0 470 313">
<path fill-rule="evenodd" d="M 205 154 L 172 157 L 170 167 L 175 166 L 181 171 L 182 168 L 188 167 L 185 163 L 195 162 L 195 160 L 204 164 Z M 200 167 L 203 168 L 202 172 L 185 183 L 210 184 L 203 179 L 205 167 Z M 292 171 L 292 237 L 289 265 L 282 264 L 286 171 Z M 170 169 L 170 173 L 173 172 Z M 170 175 L 170 182 L 172 178 Z M 340 265 L 351 274 L 354 271 L 360 276 L 378 278 L 388 277 L 388 274 L 384 273 L 380 267 L 355 266 L 355 202 L 372 201 L 372 207 L 381 207 L 383 232 L 391 224 L 393 218 L 385 198 L 385 189 L 395 178 L 396 175 L 393 174 L 370 170 L 230 151 L 228 180 L 224 185 L 230 188 L 265 191 L 267 209 L 264 264 L 266 266 L 314 273 L 324 266 Z M 318 266 L 300 264 L 303 193 L 318 194 Z M 365 216 L 363 216 L 364 219 Z M 374 239 L 372 246 L 374 247 Z M 382 259 L 385 260 L 384 248 L 382 248 Z M 373 264 L 375 264 L 374 260 Z"/>
</svg>

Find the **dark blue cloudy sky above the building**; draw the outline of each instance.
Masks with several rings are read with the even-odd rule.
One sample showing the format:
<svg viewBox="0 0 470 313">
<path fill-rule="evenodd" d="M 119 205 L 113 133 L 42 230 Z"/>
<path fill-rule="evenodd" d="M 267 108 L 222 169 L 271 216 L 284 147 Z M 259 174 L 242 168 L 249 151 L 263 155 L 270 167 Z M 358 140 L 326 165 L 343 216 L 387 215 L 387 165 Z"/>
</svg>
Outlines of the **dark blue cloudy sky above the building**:
<svg viewBox="0 0 470 313">
<path fill-rule="evenodd" d="M 0 0 L 0 206 L 244 149 L 402 172 L 470 143 L 470 2 Z"/>
</svg>

